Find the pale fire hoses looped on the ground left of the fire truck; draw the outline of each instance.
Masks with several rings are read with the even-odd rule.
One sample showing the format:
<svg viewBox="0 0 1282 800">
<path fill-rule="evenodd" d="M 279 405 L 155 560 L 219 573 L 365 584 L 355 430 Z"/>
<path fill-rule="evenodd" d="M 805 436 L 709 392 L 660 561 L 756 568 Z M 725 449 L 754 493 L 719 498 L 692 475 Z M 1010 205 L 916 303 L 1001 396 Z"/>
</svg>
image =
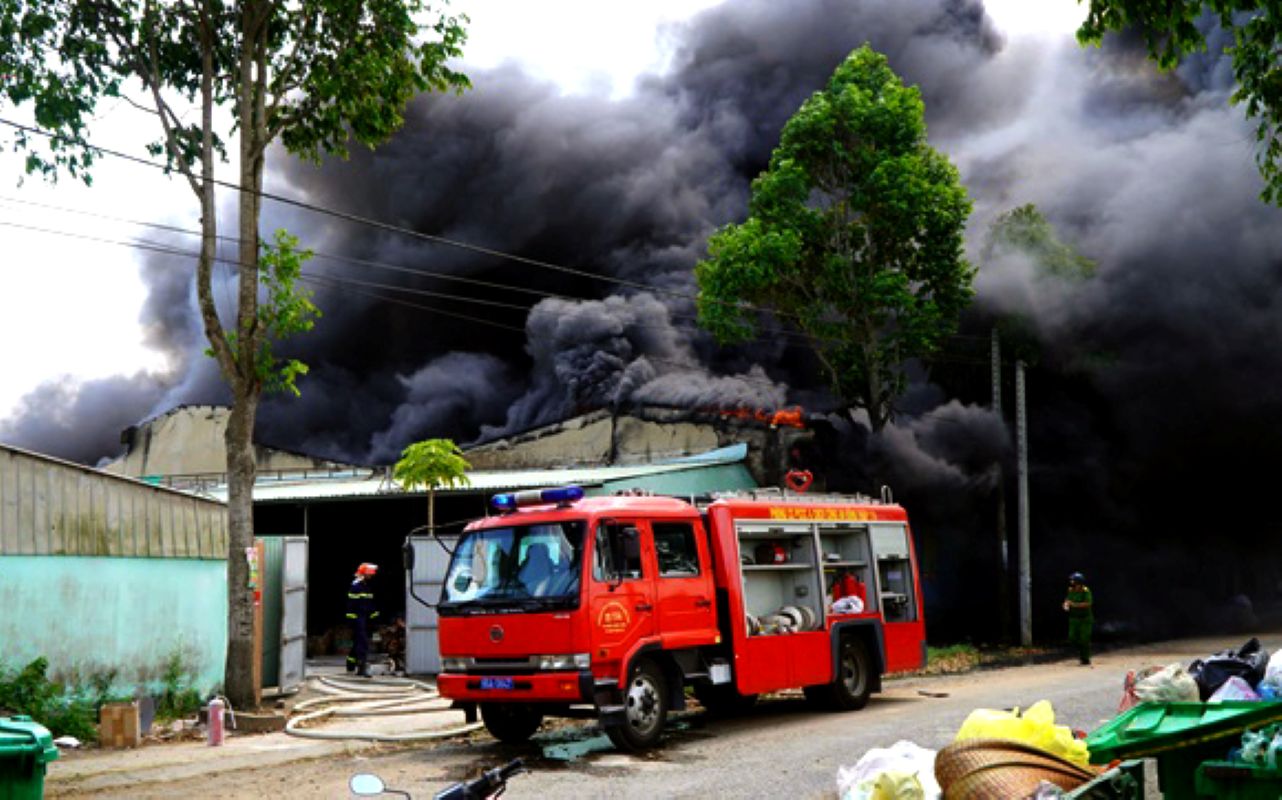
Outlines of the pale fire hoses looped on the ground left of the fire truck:
<svg viewBox="0 0 1282 800">
<path fill-rule="evenodd" d="M 433 738 L 449 738 L 462 733 L 470 733 L 482 727 L 482 723 L 473 722 L 451 728 L 437 731 L 419 731 L 415 733 L 376 733 L 370 731 L 317 731 L 303 728 L 310 722 L 327 719 L 329 717 L 396 717 L 401 714 L 427 714 L 436 712 L 449 712 L 449 706 L 440 704 L 428 705 L 438 700 L 436 690 L 410 678 L 362 678 L 344 679 L 319 677 L 309 678 L 309 682 L 324 692 L 323 697 L 304 700 L 294 706 L 294 712 L 306 712 L 295 715 L 285 726 L 285 732 L 290 736 L 304 738 L 329 738 L 329 740 L 363 740 L 377 742 L 409 742 L 428 741 Z M 324 706 L 324 708 L 320 708 Z M 309 712 L 308 709 L 317 709 Z"/>
</svg>

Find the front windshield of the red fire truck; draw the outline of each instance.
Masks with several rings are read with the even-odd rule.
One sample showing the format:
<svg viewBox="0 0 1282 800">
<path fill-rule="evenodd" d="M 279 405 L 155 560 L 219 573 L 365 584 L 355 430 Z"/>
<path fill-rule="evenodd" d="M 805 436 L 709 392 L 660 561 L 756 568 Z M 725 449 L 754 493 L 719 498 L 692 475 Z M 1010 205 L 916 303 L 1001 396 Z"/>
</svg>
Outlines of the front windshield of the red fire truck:
<svg viewBox="0 0 1282 800">
<path fill-rule="evenodd" d="M 583 521 L 464 533 L 445 576 L 441 610 L 538 610 L 578 603 Z"/>
</svg>

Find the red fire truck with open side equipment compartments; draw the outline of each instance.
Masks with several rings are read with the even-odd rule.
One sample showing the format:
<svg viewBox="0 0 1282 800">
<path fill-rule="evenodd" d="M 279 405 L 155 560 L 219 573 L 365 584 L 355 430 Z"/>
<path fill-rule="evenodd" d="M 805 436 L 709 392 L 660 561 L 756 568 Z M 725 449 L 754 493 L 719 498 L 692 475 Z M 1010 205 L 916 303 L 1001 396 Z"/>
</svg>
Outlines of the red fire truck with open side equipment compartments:
<svg viewBox="0 0 1282 800">
<path fill-rule="evenodd" d="M 503 741 L 596 717 L 644 749 L 686 686 L 714 713 L 795 687 L 853 710 L 926 663 L 913 537 L 888 497 L 560 487 L 492 505 L 445 577 L 437 687 Z"/>
</svg>

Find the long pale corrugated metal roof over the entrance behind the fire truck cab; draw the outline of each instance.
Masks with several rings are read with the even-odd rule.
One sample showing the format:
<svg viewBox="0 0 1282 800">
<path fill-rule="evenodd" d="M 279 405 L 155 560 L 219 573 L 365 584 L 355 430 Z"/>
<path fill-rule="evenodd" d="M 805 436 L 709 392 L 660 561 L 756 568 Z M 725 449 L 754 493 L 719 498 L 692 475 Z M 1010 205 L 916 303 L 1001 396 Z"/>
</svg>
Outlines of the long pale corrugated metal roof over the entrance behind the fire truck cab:
<svg viewBox="0 0 1282 800">
<path fill-rule="evenodd" d="M 647 476 L 670 474 L 683 471 L 700 471 L 719 464 L 736 464 L 744 458 L 742 451 L 727 447 L 723 451 L 706 454 L 706 460 L 669 464 L 632 464 L 623 467 L 567 467 L 562 469 L 513 469 L 469 472 L 470 486 L 438 488 L 437 495 L 449 494 L 488 494 L 509 488 L 535 488 L 540 486 L 563 486 L 574 483 L 583 487 L 601 486 L 615 481 Z M 353 476 L 342 478 L 272 479 L 260 481 L 254 486 L 255 503 L 297 503 L 300 500 L 340 500 L 349 497 L 376 496 L 415 496 L 426 495 L 426 490 L 408 492 L 390 477 L 383 474 Z M 218 486 L 209 495 L 219 500 L 227 499 L 227 486 Z"/>
</svg>

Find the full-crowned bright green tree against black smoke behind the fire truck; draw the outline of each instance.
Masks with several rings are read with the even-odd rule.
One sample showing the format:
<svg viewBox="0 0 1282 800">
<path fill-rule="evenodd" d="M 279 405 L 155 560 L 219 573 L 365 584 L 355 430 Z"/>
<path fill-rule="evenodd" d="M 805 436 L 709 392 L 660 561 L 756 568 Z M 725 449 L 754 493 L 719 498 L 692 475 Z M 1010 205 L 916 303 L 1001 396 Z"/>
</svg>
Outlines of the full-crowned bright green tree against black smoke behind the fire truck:
<svg viewBox="0 0 1282 800">
<path fill-rule="evenodd" d="M 881 429 L 904 363 L 935 354 L 973 295 L 969 213 L 956 169 L 926 142 L 920 94 L 860 47 L 783 127 L 747 219 L 709 240 L 700 322 L 744 341 L 769 309 Z"/>
</svg>

